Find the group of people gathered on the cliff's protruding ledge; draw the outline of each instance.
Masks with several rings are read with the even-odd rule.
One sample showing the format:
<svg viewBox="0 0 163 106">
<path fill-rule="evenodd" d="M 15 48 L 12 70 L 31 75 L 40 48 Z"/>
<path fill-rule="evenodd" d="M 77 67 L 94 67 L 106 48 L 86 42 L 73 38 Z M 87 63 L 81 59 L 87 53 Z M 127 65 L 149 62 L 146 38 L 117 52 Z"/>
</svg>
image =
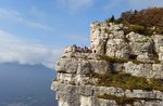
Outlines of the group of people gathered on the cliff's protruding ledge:
<svg viewBox="0 0 163 106">
<path fill-rule="evenodd" d="M 73 48 L 75 48 L 75 52 L 92 53 L 91 49 L 88 49 L 87 47 L 77 47 L 76 44 L 73 44 Z"/>
</svg>

